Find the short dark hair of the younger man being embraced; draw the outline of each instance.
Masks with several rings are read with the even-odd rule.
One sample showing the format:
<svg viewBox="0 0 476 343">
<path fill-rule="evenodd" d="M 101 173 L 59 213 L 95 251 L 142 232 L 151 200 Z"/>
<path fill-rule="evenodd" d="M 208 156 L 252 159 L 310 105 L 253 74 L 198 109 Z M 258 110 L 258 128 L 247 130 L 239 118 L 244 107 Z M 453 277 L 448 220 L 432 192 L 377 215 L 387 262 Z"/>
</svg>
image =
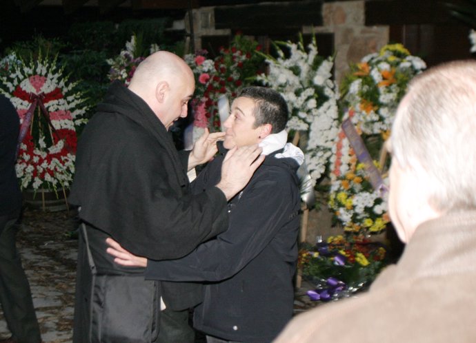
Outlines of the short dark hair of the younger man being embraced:
<svg viewBox="0 0 476 343">
<path fill-rule="evenodd" d="M 283 96 L 267 87 L 251 86 L 241 90 L 238 97 L 244 96 L 255 101 L 255 127 L 271 124 L 272 134 L 286 128 L 288 122 L 288 105 Z"/>
</svg>

